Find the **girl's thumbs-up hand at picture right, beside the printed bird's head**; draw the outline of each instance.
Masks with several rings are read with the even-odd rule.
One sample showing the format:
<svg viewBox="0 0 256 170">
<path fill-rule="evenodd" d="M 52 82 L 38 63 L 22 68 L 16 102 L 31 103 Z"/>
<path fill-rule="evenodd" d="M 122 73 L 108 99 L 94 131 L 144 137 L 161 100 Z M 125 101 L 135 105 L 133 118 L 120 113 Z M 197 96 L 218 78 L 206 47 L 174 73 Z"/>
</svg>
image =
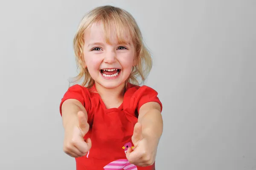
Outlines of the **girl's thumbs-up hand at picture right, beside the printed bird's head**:
<svg viewBox="0 0 256 170">
<path fill-rule="evenodd" d="M 138 122 L 134 126 L 134 134 L 131 137 L 134 148 L 128 148 L 126 158 L 131 164 L 146 167 L 154 164 L 157 153 L 157 141 L 144 136 L 142 126 Z"/>
</svg>

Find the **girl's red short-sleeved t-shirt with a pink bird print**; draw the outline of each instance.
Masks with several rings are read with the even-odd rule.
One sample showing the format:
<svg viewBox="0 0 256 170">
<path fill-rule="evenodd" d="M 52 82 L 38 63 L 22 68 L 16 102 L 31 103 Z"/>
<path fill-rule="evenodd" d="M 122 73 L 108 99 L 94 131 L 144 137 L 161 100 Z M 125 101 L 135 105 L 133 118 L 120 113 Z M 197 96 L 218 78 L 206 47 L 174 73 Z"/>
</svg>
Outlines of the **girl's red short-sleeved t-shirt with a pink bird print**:
<svg viewBox="0 0 256 170">
<path fill-rule="evenodd" d="M 90 138 L 92 147 L 87 156 L 76 158 L 76 170 L 154 170 L 154 164 L 148 167 L 130 164 L 125 150 L 134 146 L 131 136 L 140 107 L 155 101 L 162 111 L 157 92 L 148 86 L 128 84 L 122 104 L 118 108 L 106 109 L 100 95 L 93 90 L 96 90 L 95 85 L 92 89 L 74 85 L 61 99 L 61 104 L 70 98 L 77 99 L 88 114 L 90 129 L 84 139 Z"/>
</svg>

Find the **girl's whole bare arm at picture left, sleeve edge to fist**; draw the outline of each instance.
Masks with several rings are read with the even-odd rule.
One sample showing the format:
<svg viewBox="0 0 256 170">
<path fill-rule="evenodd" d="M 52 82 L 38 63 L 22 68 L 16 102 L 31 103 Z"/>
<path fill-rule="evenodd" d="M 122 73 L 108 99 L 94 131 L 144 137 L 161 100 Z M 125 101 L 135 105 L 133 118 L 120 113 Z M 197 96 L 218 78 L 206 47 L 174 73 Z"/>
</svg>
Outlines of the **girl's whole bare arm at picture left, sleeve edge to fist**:
<svg viewBox="0 0 256 170">
<path fill-rule="evenodd" d="M 64 152 L 72 157 L 85 156 L 92 144 L 90 138 L 84 141 L 84 135 L 89 130 L 88 115 L 84 106 L 76 99 L 67 99 L 61 106 L 61 112 L 64 127 Z"/>
</svg>

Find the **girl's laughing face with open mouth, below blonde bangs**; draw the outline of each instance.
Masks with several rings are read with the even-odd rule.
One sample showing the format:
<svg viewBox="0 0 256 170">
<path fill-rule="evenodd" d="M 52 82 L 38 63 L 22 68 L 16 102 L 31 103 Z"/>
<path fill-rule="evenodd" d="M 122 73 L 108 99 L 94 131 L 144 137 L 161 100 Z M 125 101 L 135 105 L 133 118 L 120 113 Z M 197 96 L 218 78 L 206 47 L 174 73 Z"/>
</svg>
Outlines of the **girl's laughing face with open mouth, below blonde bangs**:
<svg viewBox="0 0 256 170">
<path fill-rule="evenodd" d="M 130 37 L 126 36 L 125 44 L 119 44 L 116 34 L 111 34 L 108 44 L 102 23 L 93 23 L 84 33 L 83 50 L 84 66 L 91 77 L 96 84 L 108 89 L 124 84 L 135 66 L 135 49 Z"/>
</svg>

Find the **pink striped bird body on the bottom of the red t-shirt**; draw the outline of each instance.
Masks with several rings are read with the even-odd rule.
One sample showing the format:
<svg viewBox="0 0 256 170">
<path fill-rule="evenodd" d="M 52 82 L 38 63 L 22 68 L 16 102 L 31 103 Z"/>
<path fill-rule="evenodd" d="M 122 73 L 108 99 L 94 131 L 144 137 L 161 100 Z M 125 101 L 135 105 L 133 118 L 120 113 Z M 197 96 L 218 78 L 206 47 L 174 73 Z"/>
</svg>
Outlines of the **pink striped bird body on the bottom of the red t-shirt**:
<svg viewBox="0 0 256 170">
<path fill-rule="evenodd" d="M 127 159 L 119 159 L 107 164 L 104 170 L 137 170 L 137 167 L 134 164 L 130 164 Z"/>
</svg>

